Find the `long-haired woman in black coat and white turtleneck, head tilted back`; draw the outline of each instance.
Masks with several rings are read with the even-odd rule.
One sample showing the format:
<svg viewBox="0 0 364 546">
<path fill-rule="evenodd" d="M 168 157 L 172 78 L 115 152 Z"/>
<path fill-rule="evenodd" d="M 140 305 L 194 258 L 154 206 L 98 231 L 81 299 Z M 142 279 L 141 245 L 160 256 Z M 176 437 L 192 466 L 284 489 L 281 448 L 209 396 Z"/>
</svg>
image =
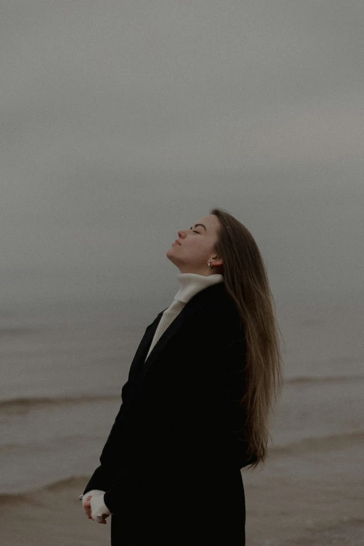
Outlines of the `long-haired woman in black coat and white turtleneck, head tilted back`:
<svg viewBox="0 0 364 546">
<path fill-rule="evenodd" d="M 273 297 L 254 238 L 214 208 L 167 258 L 174 301 L 146 328 L 80 499 L 112 546 L 245 545 L 241 469 L 267 455 L 282 388 Z"/>
</svg>

